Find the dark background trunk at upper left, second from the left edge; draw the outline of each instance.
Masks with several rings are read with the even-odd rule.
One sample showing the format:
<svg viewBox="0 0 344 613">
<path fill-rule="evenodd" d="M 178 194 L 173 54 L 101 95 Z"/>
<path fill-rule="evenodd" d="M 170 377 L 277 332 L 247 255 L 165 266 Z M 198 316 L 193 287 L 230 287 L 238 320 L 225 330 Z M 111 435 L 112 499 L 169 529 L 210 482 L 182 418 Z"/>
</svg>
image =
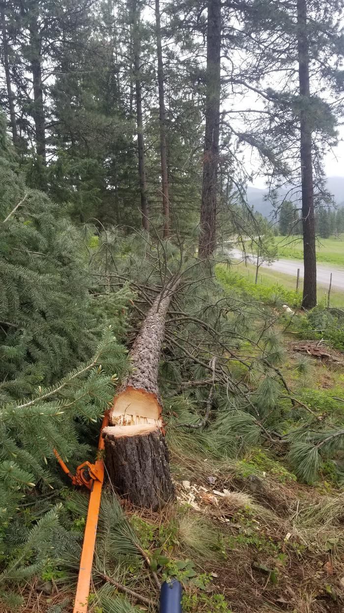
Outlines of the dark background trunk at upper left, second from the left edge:
<svg viewBox="0 0 344 613">
<path fill-rule="evenodd" d="M 35 122 L 36 151 L 37 155 L 42 156 L 43 162 L 45 164 L 45 112 L 42 85 L 41 41 L 40 32 L 38 31 L 37 16 L 34 14 L 30 17 L 29 31 L 32 88 L 34 90 L 34 111 L 32 112 L 32 116 Z"/>
</svg>

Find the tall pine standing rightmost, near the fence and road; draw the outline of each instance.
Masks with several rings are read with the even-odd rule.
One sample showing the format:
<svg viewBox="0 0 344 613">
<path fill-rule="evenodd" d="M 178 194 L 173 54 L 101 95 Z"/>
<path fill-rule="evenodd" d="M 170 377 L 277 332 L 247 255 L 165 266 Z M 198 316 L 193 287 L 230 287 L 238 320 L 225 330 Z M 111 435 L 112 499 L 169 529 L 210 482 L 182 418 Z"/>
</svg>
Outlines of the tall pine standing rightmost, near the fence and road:
<svg viewBox="0 0 344 613">
<path fill-rule="evenodd" d="M 251 88 L 265 104 L 267 116 L 260 121 L 260 132 L 264 132 L 265 123 L 268 139 L 274 135 L 277 151 L 284 150 L 282 158 L 289 163 L 284 177 L 282 174 L 276 181 L 276 172 L 273 173 L 273 182 L 278 187 L 284 180 L 289 186 L 294 185 L 295 190 L 301 183 L 304 307 L 313 307 L 317 302 L 313 174 L 316 171 L 324 195 L 322 154 L 324 148 L 335 142 L 335 126 L 341 112 L 340 10 L 339 2 L 328 0 L 298 0 L 291 4 L 267 0 L 253 2 L 247 10 L 246 31 L 254 32 L 254 42 L 247 39 L 247 48 L 250 53 L 255 51 L 259 60 L 255 82 L 249 78 L 242 81 L 247 91 Z M 279 78 L 284 75 L 279 88 L 265 86 L 266 70 Z M 321 97 L 319 83 L 326 83 L 326 88 L 331 89 L 338 106 Z M 295 156 L 297 150 L 301 165 Z M 295 172 L 300 166 L 301 173 Z"/>
</svg>

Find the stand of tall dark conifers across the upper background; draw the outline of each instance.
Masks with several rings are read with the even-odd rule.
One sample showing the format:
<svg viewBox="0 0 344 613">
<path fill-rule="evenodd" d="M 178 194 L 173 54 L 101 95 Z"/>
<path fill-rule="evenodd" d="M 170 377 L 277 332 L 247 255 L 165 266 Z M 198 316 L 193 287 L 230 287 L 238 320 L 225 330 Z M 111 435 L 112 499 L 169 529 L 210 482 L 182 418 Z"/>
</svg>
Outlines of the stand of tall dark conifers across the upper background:
<svg viewBox="0 0 344 613">
<path fill-rule="evenodd" d="M 313 184 L 342 112 L 340 11 L 329 0 L 2 2 L 0 99 L 28 185 L 78 223 L 163 237 L 198 227 L 208 257 L 244 231 L 253 152 L 271 190 L 299 189 L 312 307 Z"/>
</svg>

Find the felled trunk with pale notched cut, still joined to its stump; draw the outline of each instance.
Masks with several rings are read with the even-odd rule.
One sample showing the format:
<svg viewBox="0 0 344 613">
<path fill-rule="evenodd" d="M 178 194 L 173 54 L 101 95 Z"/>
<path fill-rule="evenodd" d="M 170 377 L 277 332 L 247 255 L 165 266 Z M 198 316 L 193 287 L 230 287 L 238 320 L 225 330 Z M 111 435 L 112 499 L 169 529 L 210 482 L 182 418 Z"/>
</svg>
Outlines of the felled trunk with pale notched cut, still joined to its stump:
<svg viewBox="0 0 344 613">
<path fill-rule="evenodd" d="M 103 430 L 112 485 L 133 504 L 153 510 L 175 498 L 161 417 L 158 367 L 166 313 L 177 284 L 171 283 L 148 311 L 130 352 L 134 370 L 115 396 L 111 425 Z"/>
</svg>

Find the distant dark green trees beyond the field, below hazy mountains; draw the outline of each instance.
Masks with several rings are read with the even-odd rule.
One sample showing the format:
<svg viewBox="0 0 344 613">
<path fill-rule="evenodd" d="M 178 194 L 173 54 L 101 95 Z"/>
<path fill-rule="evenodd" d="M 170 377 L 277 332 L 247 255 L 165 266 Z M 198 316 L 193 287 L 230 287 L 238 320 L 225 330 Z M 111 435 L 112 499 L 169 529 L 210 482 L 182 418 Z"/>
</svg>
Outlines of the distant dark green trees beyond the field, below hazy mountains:
<svg viewBox="0 0 344 613">
<path fill-rule="evenodd" d="M 302 234 L 302 219 L 293 202 L 285 201 L 279 211 L 279 234 L 291 236 Z M 315 232 L 321 238 L 338 237 L 344 232 L 344 207 L 337 209 L 320 207 L 315 211 Z"/>
</svg>

